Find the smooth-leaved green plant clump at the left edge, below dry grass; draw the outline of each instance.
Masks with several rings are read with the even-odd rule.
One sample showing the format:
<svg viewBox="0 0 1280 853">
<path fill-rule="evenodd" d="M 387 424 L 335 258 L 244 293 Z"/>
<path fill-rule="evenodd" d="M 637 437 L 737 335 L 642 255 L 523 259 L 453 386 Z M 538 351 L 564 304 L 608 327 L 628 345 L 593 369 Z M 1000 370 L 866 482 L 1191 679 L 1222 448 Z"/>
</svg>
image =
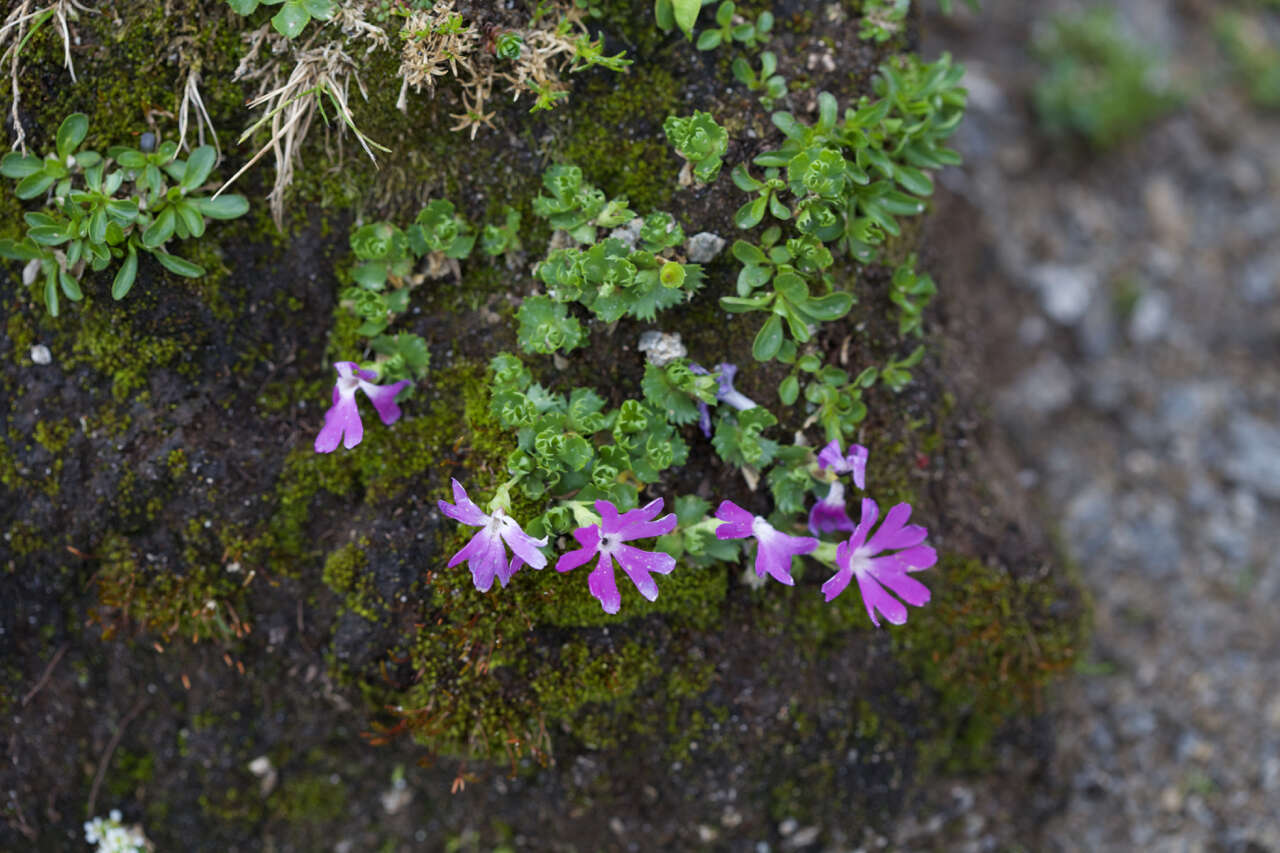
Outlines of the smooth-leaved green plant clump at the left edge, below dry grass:
<svg viewBox="0 0 1280 853">
<path fill-rule="evenodd" d="M 186 160 L 172 140 L 147 152 L 113 146 L 104 158 L 81 149 L 87 134 L 88 117 L 73 113 L 58 128 L 54 151 L 44 158 L 10 151 L 0 159 L 0 174 L 18 181 L 19 199 L 45 197 L 44 210 L 23 215 L 22 240 L 0 240 L 0 257 L 27 263 L 23 282 L 44 283 L 54 316 L 59 292 L 78 302 L 84 270 L 101 272 L 113 260 L 123 263 L 111 296 L 124 298 L 137 278 L 140 251 L 177 275 L 204 275 L 204 268 L 170 255 L 165 245 L 173 237 L 204 236 L 206 219 L 234 219 L 248 210 L 243 196 L 200 195 L 214 168 L 212 146 L 197 147 Z"/>
</svg>

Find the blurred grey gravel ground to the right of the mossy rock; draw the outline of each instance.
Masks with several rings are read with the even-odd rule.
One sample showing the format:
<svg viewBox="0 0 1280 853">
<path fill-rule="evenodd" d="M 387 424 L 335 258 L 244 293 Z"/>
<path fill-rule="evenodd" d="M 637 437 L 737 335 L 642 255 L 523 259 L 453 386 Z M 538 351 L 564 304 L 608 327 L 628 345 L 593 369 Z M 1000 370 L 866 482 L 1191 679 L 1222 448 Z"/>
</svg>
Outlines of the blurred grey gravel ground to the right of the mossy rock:
<svg viewBox="0 0 1280 853">
<path fill-rule="evenodd" d="M 970 87 L 934 275 L 1092 648 L 1052 747 L 946 783 L 899 844 L 1280 850 L 1280 117 L 1228 82 L 1217 6 L 1132 0 L 1187 104 L 1105 154 L 1044 138 L 1025 46 L 1069 8 L 991 0 L 925 53 Z"/>
</svg>

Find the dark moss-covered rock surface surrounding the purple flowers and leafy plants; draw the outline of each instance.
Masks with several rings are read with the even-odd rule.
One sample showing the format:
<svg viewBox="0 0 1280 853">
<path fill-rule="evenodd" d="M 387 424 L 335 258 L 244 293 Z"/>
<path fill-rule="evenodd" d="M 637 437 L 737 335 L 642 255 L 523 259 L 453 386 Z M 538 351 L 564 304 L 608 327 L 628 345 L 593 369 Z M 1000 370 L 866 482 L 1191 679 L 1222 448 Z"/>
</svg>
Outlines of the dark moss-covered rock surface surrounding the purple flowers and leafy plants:
<svg viewBox="0 0 1280 853">
<path fill-rule="evenodd" d="M 527 19 L 526 5 L 475 3 L 465 14 L 500 29 Z M 445 524 L 436 501 L 454 476 L 477 502 L 492 497 L 515 447 L 489 412 L 486 364 L 515 347 L 515 305 L 550 237 L 531 215 L 543 168 L 573 161 L 641 213 L 664 209 L 690 233 L 732 238 L 742 197 L 727 169 L 710 187 L 678 186 L 662 120 L 713 111 L 733 138 L 730 165 L 774 141 L 726 55 L 659 33 L 640 0 L 600 6 L 590 26 L 635 59 L 627 73 L 573 76 L 549 113 L 497 99 L 494 129 L 474 141 L 448 131 L 456 81 L 410 92 L 402 111 L 397 56 L 361 56 L 369 97 L 352 83 L 353 115 L 392 151 L 375 167 L 317 118 L 283 232 L 266 211 L 262 161 L 239 184 L 251 214 L 183 245 L 210 270 L 202 279 L 145 259 L 124 301 L 108 296 L 110 270 L 88 274 L 83 302 L 52 319 L 6 265 L 0 643 L 14 671 L 0 679 L 0 710 L 20 736 L 15 763 L 0 770 L 15 792 L 0 847 L 59 849 L 91 804 L 142 820 L 163 849 L 344 839 L 435 849 L 421 839 L 474 827 L 490 848 L 536 827 L 540 847 L 605 849 L 618 838 L 600 816 L 627 838 L 645 826 L 654 848 L 705 843 L 700 824 L 719 826 L 730 847 L 773 839 L 788 817 L 836 843 L 850 826 L 892 820 L 920 774 L 980 763 L 1005 716 L 1071 661 L 1079 602 L 1025 537 L 997 547 L 1004 510 L 966 475 L 966 403 L 950 398 L 936 357 L 902 393 L 865 397 L 877 497 L 911 501 L 945 553 L 929 573 L 933 603 L 901 629 L 872 629 L 854 593 L 822 602 L 814 566 L 797 570 L 795 588 L 765 589 L 740 566 L 680 566 L 653 606 L 625 588 L 614 616 L 590 597 L 585 570 L 526 569 L 480 594 L 465 567 L 447 567 L 470 530 Z M 771 47 L 795 86 L 792 109 L 806 113 L 819 88 L 846 102 L 868 91 L 891 46 L 858 42 L 849 23 L 820 35 L 826 9 L 783 6 Z M 219 174 L 230 174 L 262 143 L 232 145 L 256 90 L 234 72 L 244 37 L 269 17 L 246 20 L 215 0 L 128 0 L 83 15 L 74 86 L 46 27 L 19 64 L 28 145 L 47 149 L 76 110 L 99 150 L 148 129 L 173 137 L 177 95 L 198 69 L 228 152 Z M 273 56 L 256 61 L 287 63 Z M 329 362 L 361 346 L 337 304 L 347 233 L 371 218 L 407 223 L 428 197 L 477 223 L 512 205 L 526 252 L 515 269 L 474 256 L 458 278 L 417 287 L 406 330 L 430 343 L 429 378 L 402 398 L 399 423 L 366 421 L 356 451 L 317 455 Z M 13 237 L 27 207 L 9 192 L 0 206 L 0 237 Z M 886 256 L 916 240 L 908 229 Z M 736 268 L 726 252 L 707 272 L 707 288 L 657 325 L 704 364 L 750 364 L 754 327 L 731 325 L 717 302 Z M 851 370 L 900 355 L 887 270 L 850 264 L 835 275 L 858 305 L 818 346 Z M 639 396 L 635 342 L 652 325 L 590 323 L 567 366 L 530 364 L 552 388 L 591 386 L 617 405 Z M 37 343 L 51 364 L 32 361 Z M 739 388 L 772 405 L 783 374 L 744 370 Z M 804 412 L 783 412 L 787 430 L 803 425 Z M 768 510 L 764 489 L 751 492 L 696 429 L 685 438 L 690 465 L 652 496 Z M 518 498 L 513 511 L 541 508 Z M 274 788 L 248 770 L 262 756 Z M 384 808 L 397 774 L 413 806 Z"/>
</svg>

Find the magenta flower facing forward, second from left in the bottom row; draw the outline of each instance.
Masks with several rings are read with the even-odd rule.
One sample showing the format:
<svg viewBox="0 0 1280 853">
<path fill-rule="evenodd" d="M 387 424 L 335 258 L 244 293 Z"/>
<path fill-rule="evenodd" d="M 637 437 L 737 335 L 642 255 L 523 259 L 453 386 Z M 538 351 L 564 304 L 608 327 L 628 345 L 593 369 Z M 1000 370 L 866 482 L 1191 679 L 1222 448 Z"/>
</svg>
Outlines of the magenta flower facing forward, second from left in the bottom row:
<svg viewBox="0 0 1280 853">
<path fill-rule="evenodd" d="M 654 601 L 658 598 L 658 584 L 650 576 L 668 574 L 676 567 L 676 558 L 669 553 L 640 551 L 625 542 L 649 539 L 671 533 L 676 529 L 675 514 L 667 514 L 654 521 L 662 512 L 662 498 L 650 501 L 639 510 L 628 510 L 618 515 L 618 508 L 608 501 L 596 501 L 595 511 L 600 514 L 599 524 L 589 524 L 573 532 L 573 538 L 582 546 L 577 551 L 561 555 L 556 571 L 571 571 L 591 557 L 599 556 L 595 569 L 586 579 L 586 587 L 599 599 L 605 613 L 616 613 L 622 606 L 622 596 L 613 578 L 613 561 L 617 560 L 622 571 L 636 585 L 640 594 Z"/>
</svg>

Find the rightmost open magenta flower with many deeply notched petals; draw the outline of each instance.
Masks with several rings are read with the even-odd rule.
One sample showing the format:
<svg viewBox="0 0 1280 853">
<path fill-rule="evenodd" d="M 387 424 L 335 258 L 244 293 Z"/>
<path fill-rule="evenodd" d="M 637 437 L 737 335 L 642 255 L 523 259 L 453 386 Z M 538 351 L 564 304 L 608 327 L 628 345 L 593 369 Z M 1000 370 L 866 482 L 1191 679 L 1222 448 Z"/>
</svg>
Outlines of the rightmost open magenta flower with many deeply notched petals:
<svg viewBox="0 0 1280 853">
<path fill-rule="evenodd" d="M 850 579 L 858 578 L 867 615 L 877 628 L 879 620 L 876 619 L 876 611 L 893 625 L 906 621 L 906 607 L 897 598 L 915 607 L 928 603 L 928 588 L 908 573 L 928 569 L 938 561 L 937 552 L 922 544 L 929 532 L 918 524 L 906 524 L 911 517 L 910 503 L 899 503 L 890 510 L 884 516 L 884 524 L 868 539 L 867 535 L 876 525 L 878 514 L 879 507 L 876 506 L 876 501 L 863 498 L 863 517 L 858 523 L 858 529 L 847 542 L 836 546 L 837 571 L 822 585 L 827 601 L 831 601 L 845 592 Z M 897 548 L 901 551 L 883 553 Z M 890 596 L 884 590 L 886 587 L 897 594 L 897 598 Z"/>
</svg>

